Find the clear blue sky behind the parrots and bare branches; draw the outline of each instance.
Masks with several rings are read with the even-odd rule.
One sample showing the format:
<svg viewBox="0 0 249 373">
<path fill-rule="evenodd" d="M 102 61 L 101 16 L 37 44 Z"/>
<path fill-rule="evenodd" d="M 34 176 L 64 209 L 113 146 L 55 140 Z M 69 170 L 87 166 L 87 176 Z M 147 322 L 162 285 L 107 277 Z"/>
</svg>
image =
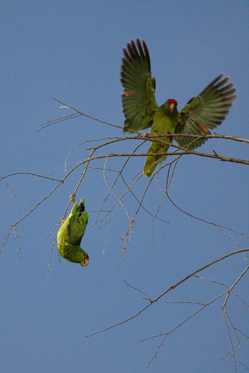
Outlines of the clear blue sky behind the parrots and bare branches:
<svg viewBox="0 0 249 373">
<path fill-rule="evenodd" d="M 122 47 L 131 39 L 144 39 L 156 79 L 156 100 L 178 101 L 181 109 L 219 73 L 229 75 L 237 88 L 230 113 L 215 132 L 249 138 L 248 116 L 248 3 L 246 1 L 3 1 L 1 3 L 1 173 L 32 172 L 54 179 L 65 176 L 65 159 L 84 141 L 122 137 L 122 130 L 78 117 L 56 123 L 37 133 L 41 124 L 70 115 L 57 100 L 105 122 L 122 126 Z M 123 141 L 99 150 L 98 155 L 129 153 L 139 142 Z M 67 171 L 87 159 L 86 143 L 72 152 Z M 146 152 L 148 144 L 141 147 Z M 208 140 L 199 148 L 204 153 L 248 159 L 248 144 L 230 140 Z M 172 160 L 172 159 L 171 159 Z M 90 164 L 103 168 L 105 159 Z M 124 159 L 112 158 L 107 167 L 119 170 Z M 124 170 L 126 182 L 143 168 L 144 159 L 134 157 Z M 57 256 L 50 259 L 50 287 L 47 265 L 56 233 L 48 233 L 63 216 L 83 173 L 78 167 L 59 188 L 18 225 L 18 245 L 11 233 L 2 249 L 1 260 L 1 367 L 3 372 L 147 372 L 147 366 L 162 339 L 142 339 L 169 332 L 224 292 L 224 286 L 191 278 L 152 304 L 135 319 L 97 335 L 133 316 L 145 305 L 145 292 L 158 297 L 194 270 L 239 248 L 248 238 L 193 219 L 177 210 L 165 198 L 154 223 L 144 210 L 137 214 L 125 260 L 119 266 L 121 239 L 128 229 L 127 214 L 119 208 L 108 223 L 92 227 L 102 201 L 108 194 L 103 170 L 89 168 L 77 192 L 85 197 L 91 227 L 82 247 L 90 261 L 86 268 Z M 115 172 L 106 172 L 111 184 Z M 165 187 L 166 168 L 159 184 Z M 28 213 L 55 187 L 56 182 L 35 176 L 16 175 L 6 179 Z M 218 160 L 183 156 L 168 189 L 181 209 L 209 222 L 238 232 L 248 231 L 248 166 Z M 143 177 L 133 191 L 141 199 L 148 179 Z M 4 181 L 1 181 L 1 240 L 9 226 L 25 214 Z M 120 198 L 125 186 L 120 180 L 113 189 Z M 162 198 L 156 179 L 143 205 L 155 214 Z M 112 194 L 105 210 L 116 202 Z M 131 194 L 124 205 L 132 217 L 137 202 Z M 102 213 L 102 217 L 104 214 Z M 229 239 L 230 238 L 230 239 Z M 234 242 L 233 242 L 234 241 Z M 103 250 L 105 247 L 105 255 Z M 233 285 L 248 266 L 237 254 L 204 270 L 199 275 Z M 234 291 L 249 303 L 248 273 Z M 152 372 L 217 372 L 234 370 L 221 306 L 224 297 L 206 307 L 166 338 Z M 248 307 L 231 294 L 227 304 L 234 325 L 249 334 Z M 249 344 L 242 334 L 236 358 L 247 364 Z M 233 341 L 236 338 L 233 335 Z M 236 342 L 235 342 L 236 344 Z M 244 367 L 237 361 L 237 372 Z"/>
</svg>

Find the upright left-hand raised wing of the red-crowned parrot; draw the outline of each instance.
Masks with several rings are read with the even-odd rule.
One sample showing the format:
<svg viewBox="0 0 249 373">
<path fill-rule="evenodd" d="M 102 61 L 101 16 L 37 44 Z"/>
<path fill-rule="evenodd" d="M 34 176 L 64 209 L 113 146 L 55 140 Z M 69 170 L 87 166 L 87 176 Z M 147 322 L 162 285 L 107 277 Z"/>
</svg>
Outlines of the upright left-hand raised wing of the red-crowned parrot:
<svg viewBox="0 0 249 373">
<path fill-rule="evenodd" d="M 140 131 L 152 125 L 152 116 L 158 108 L 155 100 L 155 79 L 151 77 L 150 56 L 147 46 L 137 38 L 127 44 L 121 66 L 122 95 L 125 115 L 124 130 Z"/>
</svg>

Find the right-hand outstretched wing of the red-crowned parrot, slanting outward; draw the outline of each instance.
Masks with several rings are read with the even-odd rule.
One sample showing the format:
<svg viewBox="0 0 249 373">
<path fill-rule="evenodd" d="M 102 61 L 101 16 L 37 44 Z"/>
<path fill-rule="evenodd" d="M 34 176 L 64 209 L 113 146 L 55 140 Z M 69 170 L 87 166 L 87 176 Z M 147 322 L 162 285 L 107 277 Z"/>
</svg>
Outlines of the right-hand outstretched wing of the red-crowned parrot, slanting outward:
<svg viewBox="0 0 249 373">
<path fill-rule="evenodd" d="M 232 101 L 237 97 L 234 93 L 236 88 L 229 83 L 227 76 L 220 80 L 223 74 L 215 78 L 208 87 L 197 97 L 191 98 L 187 105 L 179 113 L 179 119 L 175 129 L 178 134 L 210 135 L 208 128 L 212 129 L 221 124 L 228 113 Z M 226 85 L 227 84 L 227 85 Z M 203 144 L 207 139 L 195 141 L 191 137 L 175 137 L 180 146 L 189 145 L 188 149 L 194 149 Z"/>
</svg>

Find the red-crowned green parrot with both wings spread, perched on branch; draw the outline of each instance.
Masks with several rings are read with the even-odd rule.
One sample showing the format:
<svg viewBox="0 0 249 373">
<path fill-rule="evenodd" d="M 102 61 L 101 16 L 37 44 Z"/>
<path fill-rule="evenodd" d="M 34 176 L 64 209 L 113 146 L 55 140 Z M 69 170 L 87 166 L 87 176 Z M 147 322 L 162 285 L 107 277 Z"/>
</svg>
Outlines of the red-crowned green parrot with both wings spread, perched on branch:
<svg viewBox="0 0 249 373">
<path fill-rule="evenodd" d="M 143 46 L 142 46 L 143 45 Z M 155 78 L 151 77 L 150 56 L 144 42 L 137 39 L 123 48 L 124 57 L 121 67 L 121 82 L 124 87 L 122 95 L 125 115 L 124 133 L 129 130 L 140 131 L 151 127 L 151 135 L 192 134 L 210 135 L 212 129 L 221 124 L 228 113 L 232 101 L 237 97 L 233 83 L 223 74 L 215 78 L 199 96 L 191 98 L 186 106 L 177 111 L 177 101 L 169 98 L 158 107 L 155 100 Z M 226 85 L 227 84 L 227 85 Z M 130 132 L 131 133 L 131 132 Z M 158 140 L 172 142 L 174 137 L 159 137 Z M 207 139 L 175 136 L 181 147 L 193 150 Z M 192 143 L 193 142 L 193 143 Z M 152 141 L 147 153 L 166 153 L 169 146 Z M 150 176 L 157 164 L 165 160 L 165 156 L 148 156 L 144 164 L 143 174 Z"/>
</svg>

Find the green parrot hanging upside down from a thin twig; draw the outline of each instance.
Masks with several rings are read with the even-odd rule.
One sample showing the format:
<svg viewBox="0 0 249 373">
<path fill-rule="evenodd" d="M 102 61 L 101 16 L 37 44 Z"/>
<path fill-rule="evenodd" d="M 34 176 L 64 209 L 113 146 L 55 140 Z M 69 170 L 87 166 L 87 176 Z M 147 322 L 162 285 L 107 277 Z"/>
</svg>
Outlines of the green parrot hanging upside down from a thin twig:
<svg viewBox="0 0 249 373">
<path fill-rule="evenodd" d="M 59 254 L 68 261 L 80 263 L 85 267 L 89 263 L 88 254 L 80 247 L 81 239 L 87 226 L 88 213 L 81 198 L 80 205 L 75 202 L 75 194 L 70 195 L 74 207 L 67 219 L 61 218 L 62 226 L 57 233 Z"/>
</svg>

